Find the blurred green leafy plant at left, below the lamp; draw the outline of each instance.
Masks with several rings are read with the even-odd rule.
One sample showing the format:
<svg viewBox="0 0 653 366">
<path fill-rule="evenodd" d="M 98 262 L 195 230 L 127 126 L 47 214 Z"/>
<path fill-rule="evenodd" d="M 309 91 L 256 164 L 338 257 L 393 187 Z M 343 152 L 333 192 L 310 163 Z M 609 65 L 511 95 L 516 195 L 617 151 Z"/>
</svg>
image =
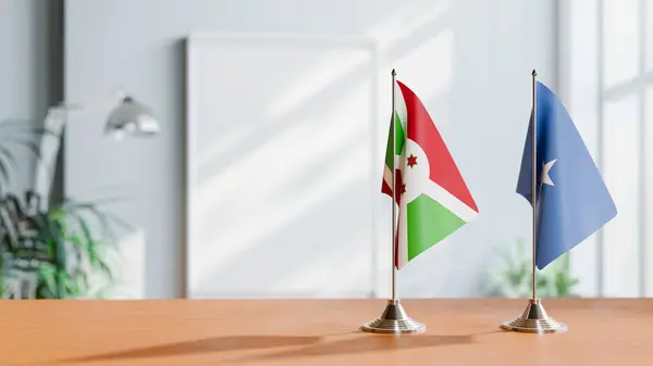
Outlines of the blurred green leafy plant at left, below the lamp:
<svg viewBox="0 0 653 366">
<path fill-rule="evenodd" d="M 51 207 L 38 193 L 7 192 L 14 148 L 39 157 L 48 131 L 0 123 L 0 294 L 5 299 L 101 298 L 114 282 L 116 226 L 128 225 L 99 202 L 66 199 Z"/>
</svg>

